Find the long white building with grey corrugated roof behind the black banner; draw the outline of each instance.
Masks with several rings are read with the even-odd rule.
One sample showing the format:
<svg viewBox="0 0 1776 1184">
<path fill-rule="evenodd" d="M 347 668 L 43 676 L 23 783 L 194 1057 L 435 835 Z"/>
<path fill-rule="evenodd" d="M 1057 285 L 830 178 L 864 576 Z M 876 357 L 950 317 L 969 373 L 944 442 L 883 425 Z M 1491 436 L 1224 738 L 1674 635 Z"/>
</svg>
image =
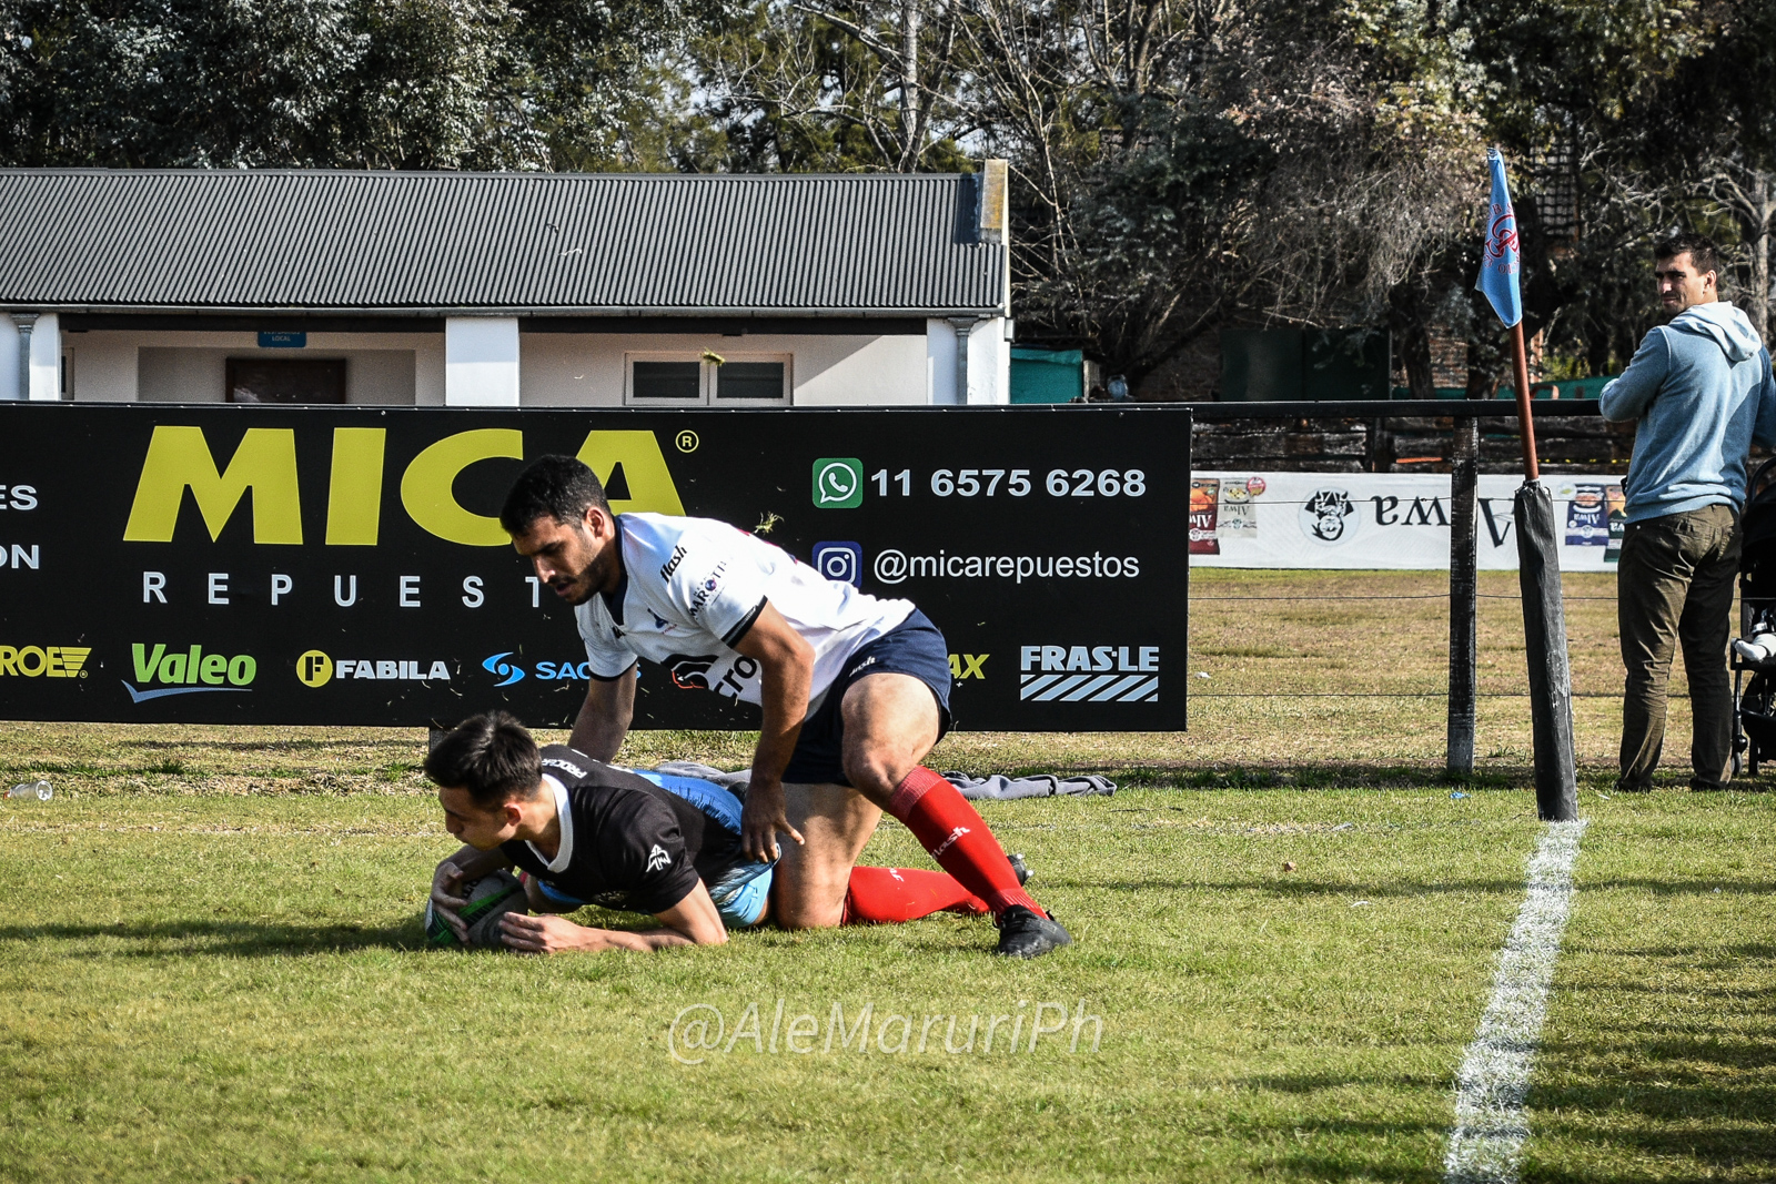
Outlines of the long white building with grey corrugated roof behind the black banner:
<svg viewBox="0 0 1776 1184">
<path fill-rule="evenodd" d="M 1003 162 L 963 176 L 12 169 L 0 243 L 0 398 L 1011 401 Z"/>
</svg>

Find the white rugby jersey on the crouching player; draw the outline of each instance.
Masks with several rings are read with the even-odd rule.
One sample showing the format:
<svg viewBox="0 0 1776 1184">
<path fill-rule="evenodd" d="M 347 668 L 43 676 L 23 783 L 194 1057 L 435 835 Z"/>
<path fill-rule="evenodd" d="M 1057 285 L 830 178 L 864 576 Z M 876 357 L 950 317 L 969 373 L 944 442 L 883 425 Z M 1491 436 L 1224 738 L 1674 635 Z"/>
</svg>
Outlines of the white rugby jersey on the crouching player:
<svg viewBox="0 0 1776 1184">
<path fill-rule="evenodd" d="M 680 687 L 758 703 L 758 662 L 733 643 L 771 602 L 813 648 L 813 712 L 845 659 L 913 612 L 909 600 L 877 600 L 829 580 L 781 547 L 714 518 L 625 513 L 616 531 L 623 584 L 574 609 L 597 678 L 616 678 L 641 657 L 664 666 Z"/>
</svg>

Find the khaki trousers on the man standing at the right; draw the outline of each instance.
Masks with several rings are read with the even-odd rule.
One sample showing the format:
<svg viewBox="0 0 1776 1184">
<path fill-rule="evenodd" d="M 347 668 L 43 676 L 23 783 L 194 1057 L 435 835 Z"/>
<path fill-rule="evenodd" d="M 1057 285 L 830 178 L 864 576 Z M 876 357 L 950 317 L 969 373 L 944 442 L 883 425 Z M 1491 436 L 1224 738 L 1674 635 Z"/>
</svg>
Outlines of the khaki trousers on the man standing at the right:
<svg viewBox="0 0 1776 1184">
<path fill-rule="evenodd" d="M 1732 777 L 1733 692 L 1726 676 L 1733 579 L 1739 575 L 1739 513 L 1703 506 L 1630 522 L 1616 572 L 1621 664 L 1623 790 L 1652 788 L 1664 749 L 1671 655 L 1684 646 L 1693 731 L 1691 788 L 1716 790 Z"/>
</svg>

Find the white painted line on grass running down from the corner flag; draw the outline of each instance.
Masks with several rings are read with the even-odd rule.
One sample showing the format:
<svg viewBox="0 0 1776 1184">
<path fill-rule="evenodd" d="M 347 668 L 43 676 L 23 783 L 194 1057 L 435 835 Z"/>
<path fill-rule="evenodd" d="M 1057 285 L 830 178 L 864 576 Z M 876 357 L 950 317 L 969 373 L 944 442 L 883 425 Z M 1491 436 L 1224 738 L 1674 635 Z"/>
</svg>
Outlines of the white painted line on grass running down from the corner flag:
<svg viewBox="0 0 1776 1184">
<path fill-rule="evenodd" d="M 1499 955 L 1492 1001 L 1455 1076 L 1455 1127 L 1444 1156 L 1447 1184 L 1517 1180 L 1517 1161 L 1529 1138 L 1524 1095 L 1572 905 L 1581 834 L 1584 822 L 1550 822 L 1529 857 L 1529 895 Z"/>
</svg>

